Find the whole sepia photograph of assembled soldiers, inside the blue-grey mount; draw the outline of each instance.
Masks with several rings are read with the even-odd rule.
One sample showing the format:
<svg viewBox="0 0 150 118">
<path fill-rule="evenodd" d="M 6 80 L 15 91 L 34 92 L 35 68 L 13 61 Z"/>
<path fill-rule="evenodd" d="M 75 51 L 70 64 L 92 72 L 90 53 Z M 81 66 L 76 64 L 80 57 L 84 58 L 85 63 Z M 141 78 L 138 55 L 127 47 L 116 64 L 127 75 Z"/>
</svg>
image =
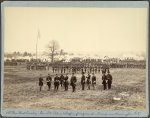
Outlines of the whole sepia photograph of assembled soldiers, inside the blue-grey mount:
<svg viewBox="0 0 150 118">
<path fill-rule="evenodd" d="M 3 19 L 2 109 L 147 112 L 148 7 L 4 7 Z"/>
</svg>

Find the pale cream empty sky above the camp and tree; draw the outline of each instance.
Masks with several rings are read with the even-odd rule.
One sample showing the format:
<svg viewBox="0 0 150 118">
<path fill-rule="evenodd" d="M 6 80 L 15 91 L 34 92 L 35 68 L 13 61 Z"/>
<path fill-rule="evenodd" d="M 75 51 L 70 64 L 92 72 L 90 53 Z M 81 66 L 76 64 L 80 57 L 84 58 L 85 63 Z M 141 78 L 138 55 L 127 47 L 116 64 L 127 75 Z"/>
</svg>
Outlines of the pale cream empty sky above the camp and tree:
<svg viewBox="0 0 150 118">
<path fill-rule="evenodd" d="M 4 52 L 38 52 L 57 40 L 66 52 L 146 52 L 147 8 L 4 9 Z"/>
</svg>

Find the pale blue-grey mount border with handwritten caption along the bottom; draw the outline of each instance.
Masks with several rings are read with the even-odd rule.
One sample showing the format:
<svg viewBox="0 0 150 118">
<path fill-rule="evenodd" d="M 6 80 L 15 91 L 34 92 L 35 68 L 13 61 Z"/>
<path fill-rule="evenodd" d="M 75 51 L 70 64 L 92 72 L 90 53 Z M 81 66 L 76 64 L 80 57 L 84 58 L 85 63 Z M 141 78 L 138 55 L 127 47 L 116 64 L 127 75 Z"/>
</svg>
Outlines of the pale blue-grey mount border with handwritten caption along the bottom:
<svg viewBox="0 0 150 118">
<path fill-rule="evenodd" d="M 105 8 L 149 8 L 147 1 L 5 1 L 1 4 L 2 40 L 1 40 L 1 114 L 8 117 L 146 117 L 149 114 L 148 98 L 148 45 L 146 66 L 146 113 L 140 111 L 108 110 L 31 110 L 2 109 L 4 83 L 4 7 L 105 7 Z M 148 9 L 149 10 L 149 9 Z M 149 15 L 149 12 L 148 12 Z M 149 22 L 149 19 L 148 19 Z M 149 25 L 148 25 L 149 26 Z M 149 30 L 149 29 L 148 29 Z M 148 35 L 147 35 L 148 36 Z M 148 38 L 147 38 L 148 39 Z M 147 44 L 149 41 L 147 40 Z"/>
</svg>

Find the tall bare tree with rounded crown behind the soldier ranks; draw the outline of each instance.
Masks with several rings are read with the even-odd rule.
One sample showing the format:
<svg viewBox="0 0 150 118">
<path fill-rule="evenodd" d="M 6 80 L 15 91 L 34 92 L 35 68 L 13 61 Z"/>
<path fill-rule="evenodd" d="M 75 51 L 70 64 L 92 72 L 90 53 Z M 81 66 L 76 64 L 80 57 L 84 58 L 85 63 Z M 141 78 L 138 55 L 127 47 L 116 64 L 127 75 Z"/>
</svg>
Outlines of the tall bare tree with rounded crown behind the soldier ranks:
<svg viewBox="0 0 150 118">
<path fill-rule="evenodd" d="M 48 56 L 50 56 L 51 62 L 54 62 L 54 57 L 58 55 L 59 44 L 56 40 L 51 40 L 47 46 Z"/>
</svg>

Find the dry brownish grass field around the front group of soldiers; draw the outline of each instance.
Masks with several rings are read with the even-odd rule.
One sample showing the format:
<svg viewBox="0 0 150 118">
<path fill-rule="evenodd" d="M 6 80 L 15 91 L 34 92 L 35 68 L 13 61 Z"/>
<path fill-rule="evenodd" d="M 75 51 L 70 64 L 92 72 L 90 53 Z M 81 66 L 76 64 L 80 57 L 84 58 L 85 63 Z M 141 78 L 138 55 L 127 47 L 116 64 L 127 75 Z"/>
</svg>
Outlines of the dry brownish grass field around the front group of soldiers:
<svg viewBox="0 0 150 118">
<path fill-rule="evenodd" d="M 48 71 L 29 71 L 17 66 L 4 68 L 4 108 L 28 109 L 78 109 L 78 110 L 146 110 L 145 69 L 110 69 L 113 76 L 111 90 L 103 90 L 101 76 L 97 74 L 96 90 L 81 90 L 80 78 L 77 76 L 77 89 L 72 93 L 71 86 L 67 92 L 59 87 L 54 92 L 47 91 L 46 82 L 43 90 L 39 91 L 38 77 Z M 52 76 L 53 77 L 53 76 Z M 70 75 L 69 75 L 70 80 Z M 115 100 L 114 97 L 120 98 Z"/>
</svg>

